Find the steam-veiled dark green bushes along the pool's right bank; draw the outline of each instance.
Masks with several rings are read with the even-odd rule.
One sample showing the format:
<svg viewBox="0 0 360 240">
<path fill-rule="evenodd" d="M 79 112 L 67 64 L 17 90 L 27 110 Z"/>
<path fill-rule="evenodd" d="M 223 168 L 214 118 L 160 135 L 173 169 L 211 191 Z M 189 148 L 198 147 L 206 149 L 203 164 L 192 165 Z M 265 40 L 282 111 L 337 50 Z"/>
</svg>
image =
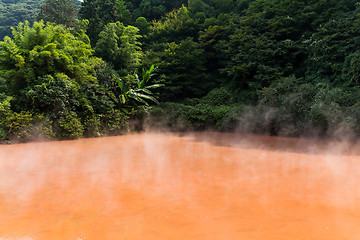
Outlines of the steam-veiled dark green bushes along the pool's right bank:
<svg viewBox="0 0 360 240">
<path fill-rule="evenodd" d="M 260 106 L 269 113 L 269 131 L 292 136 L 307 132 L 332 135 L 339 129 L 347 134 L 358 132 L 358 99 L 357 89 L 348 91 L 320 81 L 304 83 L 293 76 L 260 91 Z"/>
</svg>

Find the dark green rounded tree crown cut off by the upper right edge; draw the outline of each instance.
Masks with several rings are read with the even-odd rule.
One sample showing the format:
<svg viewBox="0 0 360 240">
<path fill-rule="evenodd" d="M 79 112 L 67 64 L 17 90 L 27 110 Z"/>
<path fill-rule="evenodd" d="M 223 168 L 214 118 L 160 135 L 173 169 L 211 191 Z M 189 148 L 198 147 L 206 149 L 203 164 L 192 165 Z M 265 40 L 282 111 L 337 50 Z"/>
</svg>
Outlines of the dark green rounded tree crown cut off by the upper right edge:
<svg viewBox="0 0 360 240">
<path fill-rule="evenodd" d="M 307 74 L 339 86 L 358 86 L 356 59 L 360 47 L 359 10 L 338 14 L 304 41 Z"/>
</svg>

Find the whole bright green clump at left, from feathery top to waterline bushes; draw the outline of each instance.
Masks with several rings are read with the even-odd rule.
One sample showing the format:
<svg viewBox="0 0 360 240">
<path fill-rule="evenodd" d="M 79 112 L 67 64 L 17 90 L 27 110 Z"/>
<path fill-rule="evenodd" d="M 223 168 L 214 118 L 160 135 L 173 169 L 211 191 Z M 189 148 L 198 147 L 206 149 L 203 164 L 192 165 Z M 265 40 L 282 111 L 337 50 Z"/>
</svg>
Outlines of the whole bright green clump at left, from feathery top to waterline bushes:
<svg viewBox="0 0 360 240">
<path fill-rule="evenodd" d="M 7 94 L 1 98 L 1 138 L 106 134 L 100 122 L 115 106 L 106 82 L 111 76 L 103 60 L 92 56 L 83 31 L 74 35 L 43 22 L 13 31 L 14 39 L 0 42 L 0 90 Z"/>
</svg>

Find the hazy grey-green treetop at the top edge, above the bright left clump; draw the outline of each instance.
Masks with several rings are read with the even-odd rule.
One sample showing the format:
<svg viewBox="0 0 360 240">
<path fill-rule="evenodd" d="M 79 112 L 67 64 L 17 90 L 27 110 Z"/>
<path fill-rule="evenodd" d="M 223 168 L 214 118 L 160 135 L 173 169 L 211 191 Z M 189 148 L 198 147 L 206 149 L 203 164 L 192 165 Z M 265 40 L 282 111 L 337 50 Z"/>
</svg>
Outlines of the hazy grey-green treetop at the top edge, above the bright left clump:
<svg viewBox="0 0 360 240">
<path fill-rule="evenodd" d="M 47 0 L 40 7 L 37 20 L 73 26 L 77 18 L 77 8 L 73 0 Z"/>
</svg>

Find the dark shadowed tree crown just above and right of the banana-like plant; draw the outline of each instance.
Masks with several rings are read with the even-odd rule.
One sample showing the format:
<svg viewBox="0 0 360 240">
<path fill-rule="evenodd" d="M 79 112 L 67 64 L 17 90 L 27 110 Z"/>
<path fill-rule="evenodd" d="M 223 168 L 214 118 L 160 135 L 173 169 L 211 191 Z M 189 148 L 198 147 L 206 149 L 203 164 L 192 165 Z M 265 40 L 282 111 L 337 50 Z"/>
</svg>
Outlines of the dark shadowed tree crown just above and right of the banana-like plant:
<svg viewBox="0 0 360 240">
<path fill-rule="evenodd" d="M 161 101 L 203 96 L 217 83 L 205 71 L 204 51 L 190 38 L 179 44 L 153 45 L 147 57 L 158 67 L 157 72 L 165 83 L 160 92 Z"/>
</svg>

